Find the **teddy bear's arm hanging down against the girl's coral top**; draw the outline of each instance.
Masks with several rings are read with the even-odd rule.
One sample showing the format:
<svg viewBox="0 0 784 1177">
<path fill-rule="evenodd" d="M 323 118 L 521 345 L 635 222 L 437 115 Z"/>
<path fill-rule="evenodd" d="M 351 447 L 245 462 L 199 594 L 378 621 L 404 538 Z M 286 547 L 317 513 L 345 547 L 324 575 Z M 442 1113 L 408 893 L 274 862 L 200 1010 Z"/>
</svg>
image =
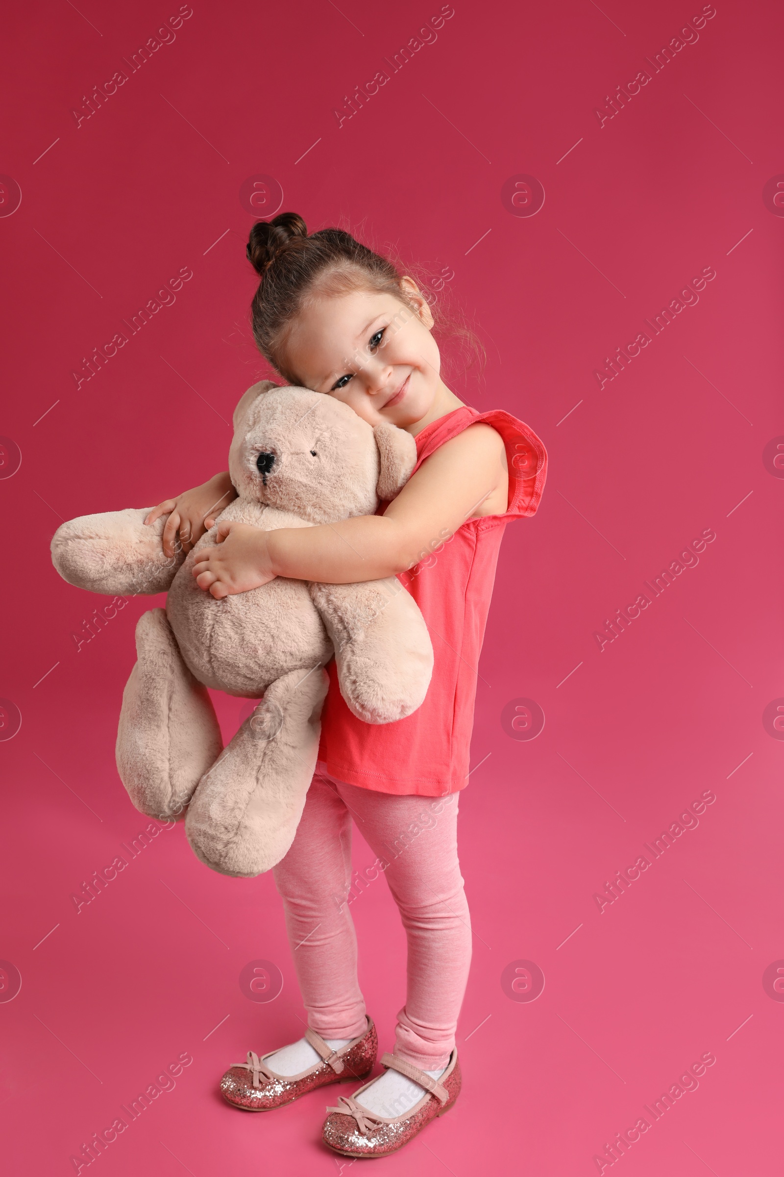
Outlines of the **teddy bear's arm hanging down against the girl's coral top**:
<svg viewBox="0 0 784 1177">
<path fill-rule="evenodd" d="M 395 723 L 416 711 L 430 684 L 433 646 L 400 580 L 308 587 L 335 647 L 349 710 L 368 724 Z"/>
</svg>

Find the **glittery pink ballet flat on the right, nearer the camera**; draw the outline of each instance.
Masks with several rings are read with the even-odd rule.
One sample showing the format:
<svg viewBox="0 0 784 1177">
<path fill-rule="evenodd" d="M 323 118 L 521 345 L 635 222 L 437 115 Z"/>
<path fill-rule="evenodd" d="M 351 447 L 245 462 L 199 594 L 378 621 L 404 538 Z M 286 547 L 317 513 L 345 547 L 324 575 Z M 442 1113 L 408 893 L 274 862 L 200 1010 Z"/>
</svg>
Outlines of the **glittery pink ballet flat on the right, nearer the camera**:
<svg viewBox="0 0 784 1177">
<path fill-rule="evenodd" d="M 461 1089 L 460 1063 L 457 1050 L 453 1050 L 447 1070 L 438 1079 L 418 1068 L 396 1058 L 395 1055 L 383 1055 L 381 1065 L 400 1071 L 414 1083 L 424 1088 L 425 1095 L 404 1116 L 387 1118 L 362 1108 L 360 1097 L 370 1086 L 366 1083 L 353 1096 L 341 1096 L 337 1108 L 328 1108 L 323 1126 L 323 1141 L 335 1152 L 344 1157 L 386 1157 L 408 1144 L 422 1129 L 443 1116 L 453 1106 Z M 371 1080 L 374 1082 L 374 1080 Z"/>
</svg>

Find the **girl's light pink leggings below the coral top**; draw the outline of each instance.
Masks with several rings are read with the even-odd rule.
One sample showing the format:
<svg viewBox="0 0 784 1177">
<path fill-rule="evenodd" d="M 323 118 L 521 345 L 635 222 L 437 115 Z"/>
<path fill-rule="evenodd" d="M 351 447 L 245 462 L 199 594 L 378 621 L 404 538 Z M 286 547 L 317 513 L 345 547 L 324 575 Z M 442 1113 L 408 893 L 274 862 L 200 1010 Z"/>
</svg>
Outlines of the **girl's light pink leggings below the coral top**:
<svg viewBox="0 0 784 1177">
<path fill-rule="evenodd" d="M 408 940 L 395 1053 L 428 1071 L 449 1062 L 471 959 L 457 796 L 377 793 L 336 780 L 319 764 L 292 849 L 274 875 L 308 1025 L 322 1038 L 355 1038 L 364 1030 L 349 904 L 384 873 Z M 354 885 L 351 818 L 377 856 Z"/>
</svg>

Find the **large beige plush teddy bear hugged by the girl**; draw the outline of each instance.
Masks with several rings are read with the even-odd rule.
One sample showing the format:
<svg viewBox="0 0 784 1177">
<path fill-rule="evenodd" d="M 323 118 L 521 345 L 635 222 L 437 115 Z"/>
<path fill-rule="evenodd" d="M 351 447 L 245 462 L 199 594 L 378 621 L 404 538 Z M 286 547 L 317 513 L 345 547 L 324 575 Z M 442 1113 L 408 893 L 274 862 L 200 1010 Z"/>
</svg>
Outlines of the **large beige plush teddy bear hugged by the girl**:
<svg viewBox="0 0 784 1177">
<path fill-rule="evenodd" d="M 333 397 L 264 380 L 234 412 L 229 474 L 239 497 L 216 523 L 272 531 L 373 514 L 415 464 L 416 443 L 406 431 L 374 428 Z M 142 613 L 136 625 L 118 771 L 142 813 L 185 817 L 201 862 L 253 877 L 294 840 L 316 764 L 324 664 L 335 656 L 355 716 L 394 723 L 424 700 L 430 637 L 396 577 L 342 585 L 277 577 L 216 599 L 192 574 L 195 552 L 215 544 L 216 526 L 187 556 L 166 557 L 166 519 L 146 525 L 149 510 L 65 523 L 52 559 L 65 580 L 89 592 L 168 592 L 166 609 Z M 207 687 L 263 694 L 226 747 Z"/>
</svg>

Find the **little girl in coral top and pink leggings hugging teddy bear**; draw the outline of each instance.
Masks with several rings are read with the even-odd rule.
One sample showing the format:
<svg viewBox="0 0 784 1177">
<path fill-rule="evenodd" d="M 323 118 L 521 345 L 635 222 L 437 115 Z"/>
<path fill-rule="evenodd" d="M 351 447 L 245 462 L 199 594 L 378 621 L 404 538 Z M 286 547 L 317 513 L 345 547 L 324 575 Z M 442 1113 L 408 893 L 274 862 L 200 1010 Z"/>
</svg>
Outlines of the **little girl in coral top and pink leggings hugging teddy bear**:
<svg viewBox="0 0 784 1177">
<path fill-rule="evenodd" d="M 366 1078 L 377 1038 L 356 976 L 347 903 L 351 820 L 386 875 L 408 939 L 406 1004 L 384 1071 L 328 1109 L 324 1142 L 350 1157 L 387 1156 L 447 1111 L 461 1086 L 455 1030 L 471 957 L 457 860 L 457 798 L 468 784 L 477 663 L 498 547 L 510 519 L 531 516 L 547 454 L 509 413 L 478 413 L 440 377 L 433 314 L 416 284 L 336 228 L 308 235 L 282 213 L 260 221 L 247 251 L 261 275 L 253 330 L 287 384 L 349 405 L 370 425 L 416 439 L 415 471 L 375 516 L 260 531 L 217 524 L 197 553 L 199 586 L 221 598 L 274 577 L 331 584 L 397 576 L 417 601 L 434 646 L 422 706 L 398 723 L 356 719 L 334 660 L 319 763 L 292 849 L 274 869 L 300 988 L 304 1038 L 248 1051 L 221 1080 L 236 1108 L 266 1111 L 315 1088 Z M 189 550 L 235 497 L 229 476 L 161 503 L 163 546 Z"/>
</svg>

